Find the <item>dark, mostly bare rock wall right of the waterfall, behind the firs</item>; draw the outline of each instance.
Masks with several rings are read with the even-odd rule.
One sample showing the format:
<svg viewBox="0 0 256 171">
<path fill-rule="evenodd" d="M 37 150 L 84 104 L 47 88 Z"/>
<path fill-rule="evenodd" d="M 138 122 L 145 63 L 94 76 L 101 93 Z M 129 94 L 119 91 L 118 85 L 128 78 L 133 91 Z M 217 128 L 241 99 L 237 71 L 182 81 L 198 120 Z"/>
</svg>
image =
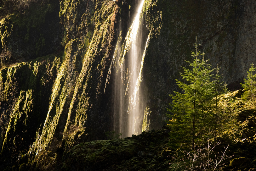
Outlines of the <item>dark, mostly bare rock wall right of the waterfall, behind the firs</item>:
<svg viewBox="0 0 256 171">
<path fill-rule="evenodd" d="M 180 91 L 175 78 L 192 61 L 196 37 L 212 68 L 220 67 L 230 90 L 241 89 L 251 63 L 256 63 L 254 1 L 147 1 L 147 27 L 155 35 L 147 48 L 144 85 L 151 126 L 164 124 L 168 94 Z"/>
</svg>

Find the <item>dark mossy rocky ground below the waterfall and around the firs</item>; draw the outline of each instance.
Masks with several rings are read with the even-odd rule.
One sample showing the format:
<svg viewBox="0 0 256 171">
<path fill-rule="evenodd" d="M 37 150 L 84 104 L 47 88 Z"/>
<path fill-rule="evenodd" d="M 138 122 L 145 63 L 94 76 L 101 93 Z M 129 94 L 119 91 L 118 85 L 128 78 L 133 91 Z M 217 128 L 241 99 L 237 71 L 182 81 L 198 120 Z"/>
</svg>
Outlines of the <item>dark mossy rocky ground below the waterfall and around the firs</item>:
<svg viewBox="0 0 256 171">
<path fill-rule="evenodd" d="M 253 135 L 255 123 L 251 117 L 241 125 L 242 136 Z M 253 127 L 251 123 L 253 123 Z M 168 132 L 170 130 L 151 130 L 140 135 L 124 139 L 91 141 L 74 146 L 70 152 L 63 155 L 61 170 L 88 171 L 154 171 L 183 170 L 186 155 L 184 149 L 169 148 Z M 246 136 L 246 135 L 245 135 Z M 237 142 L 223 139 L 223 146 L 229 142 L 227 156 L 220 170 L 252 171 L 255 166 L 255 139 L 253 136 L 239 139 Z M 223 148 L 222 145 L 219 146 Z M 185 156 L 186 157 L 186 156 Z"/>
</svg>

